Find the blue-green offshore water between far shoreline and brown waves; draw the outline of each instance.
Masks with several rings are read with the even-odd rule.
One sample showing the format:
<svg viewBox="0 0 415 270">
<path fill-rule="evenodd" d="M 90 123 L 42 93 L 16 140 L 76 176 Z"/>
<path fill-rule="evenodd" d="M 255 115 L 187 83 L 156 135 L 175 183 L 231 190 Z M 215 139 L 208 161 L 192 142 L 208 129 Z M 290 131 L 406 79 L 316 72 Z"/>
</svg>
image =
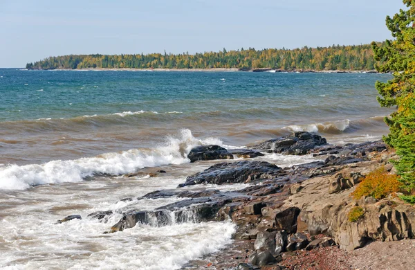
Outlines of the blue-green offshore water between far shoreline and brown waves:
<svg viewBox="0 0 415 270">
<path fill-rule="evenodd" d="M 297 107 L 304 106 L 330 108 L 334 113 L 352 116 L 376 114 L 380 110 L 374 99 L 374 83 L 390 77 L 337 73 L 15 69 L 0 69 L 0 75 L 3 76 L 0 78 L 0 121 L 74 118 L 140 110 L 226 114 L 258 109 L 284 117 L 284 109 L 292 109 L 295 114 Z M 322 98 L 321 95 L 326 96 Z M 333 100 L 343 102 L 343 106 L 334 106 Z M 259 116 L 263 117 L 269 116 Z"/>
</svg>

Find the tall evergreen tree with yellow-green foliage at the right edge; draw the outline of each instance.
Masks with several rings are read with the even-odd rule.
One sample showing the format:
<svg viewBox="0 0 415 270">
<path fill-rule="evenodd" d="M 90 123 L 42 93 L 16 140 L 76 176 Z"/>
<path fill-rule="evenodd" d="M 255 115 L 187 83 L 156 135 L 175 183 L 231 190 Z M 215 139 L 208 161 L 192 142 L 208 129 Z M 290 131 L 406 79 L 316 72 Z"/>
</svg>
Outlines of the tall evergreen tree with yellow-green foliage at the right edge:
<svg viewBox="0 0 415 270">
<path fill-rule="evenodd" d="M 387 40 L 385 46 L 372 43 L 376 69 L 392 71 L 394 78 L 376 82 L 382 107 L 397 106 L 398 110 L 385 118 L 389 134 L 385 143 L 394 147 L 400 157 L 395 161 L 403 188 L 415 190 L 415 1 L 404 0 L 409 8 L 400 10 L 393 18 L 386 18 L 387 28 L 396 39 Z"/>
</svg>

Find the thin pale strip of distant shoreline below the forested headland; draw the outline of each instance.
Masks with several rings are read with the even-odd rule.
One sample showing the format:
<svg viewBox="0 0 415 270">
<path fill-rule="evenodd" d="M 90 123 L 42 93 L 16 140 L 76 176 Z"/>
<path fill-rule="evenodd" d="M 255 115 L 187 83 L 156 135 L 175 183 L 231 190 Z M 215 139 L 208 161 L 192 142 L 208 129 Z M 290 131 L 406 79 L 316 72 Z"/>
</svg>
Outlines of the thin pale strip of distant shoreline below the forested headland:
<svg viewBox="0 0 415 270">
<path fill-rule="evenodd" d="M 102 68 L 88 68 L 88 69 L 28 69 L 41 71 L 159 71 L 159 72 L 269 72 L 269 73 L 378 73 L 378 71 L 351 71 L 351 70 L 284 70 L 284 69 L 237 69 L 237 68 L 214 68 L 214 69 L 102 69 Z"/>
</svg>

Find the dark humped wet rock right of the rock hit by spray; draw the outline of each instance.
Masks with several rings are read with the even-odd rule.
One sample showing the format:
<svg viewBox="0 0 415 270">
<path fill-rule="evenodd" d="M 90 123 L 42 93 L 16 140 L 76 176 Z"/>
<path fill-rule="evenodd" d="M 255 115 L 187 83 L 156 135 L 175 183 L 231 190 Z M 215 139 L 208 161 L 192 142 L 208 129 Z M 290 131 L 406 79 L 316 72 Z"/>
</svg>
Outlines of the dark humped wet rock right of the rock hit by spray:
<svg viewBox="0 0 415 270">
<path fill-rule="evenodd" d="M 317 134 L 309 132 L 295 132 L 293 135 L 275 138 L 259 145 L 254 145 L 252 149 L 269 150 L 279 154 L 308 154 L 316 146 L 325 145 L 326 139 Z"/>
</svg>

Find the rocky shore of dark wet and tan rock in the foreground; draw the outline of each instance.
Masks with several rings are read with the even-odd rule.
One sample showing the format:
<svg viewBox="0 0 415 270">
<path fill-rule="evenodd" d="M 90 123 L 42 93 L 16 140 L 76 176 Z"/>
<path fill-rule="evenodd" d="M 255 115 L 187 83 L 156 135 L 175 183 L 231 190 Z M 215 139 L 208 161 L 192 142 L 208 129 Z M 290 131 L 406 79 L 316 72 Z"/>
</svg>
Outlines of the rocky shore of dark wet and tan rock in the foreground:
<svg viewBox="0 0 415 270">
<path fill-rule="evenodd" d="M 279 168 L 250 160 L 263 153 L 313 154 L 324 161 Z M 396 156 L 381 141 L 338 146 L 317 134 L 296 132 L 250 149 L 196 147 L 188 157 L 192 162 L 226 161 L 190 175 L 174 190 L 125 198 L 182 200 L 156 210 L 128 210 L 103 233 L 124 231 L 138 223 L 165 226 L 231 219 L 237 225 L 232 245 L 191 261 L 183 269 L 371 269 L 356 259 L 358 255 L 351 256 L 356 249 L 371 242 L 407 240 L 415 235 L 413 206 L 395 197 L 380 201 L 373 197 L 353 201 L 351 197 L 356 184 L 369 172 L 381 166 L 394 170 L 389 161 Z M 238 160 L 232 161 L 235 158 Z M 158 173 L 166 172 L 154 175 Z M 233 183 L 249 186 L 237 191 L 203 190 L 203 184 Z M 190 186 L 201 189 L 185 188 Z M 365 213 L 358 222 L 351 222 L 348 214 L 355 206 Z M 112 214 L 96 212 L 89 218 L 106 222 Z M 82 217 L 70 216 L 59 222 L 73 218 Z"/>
</svg>

